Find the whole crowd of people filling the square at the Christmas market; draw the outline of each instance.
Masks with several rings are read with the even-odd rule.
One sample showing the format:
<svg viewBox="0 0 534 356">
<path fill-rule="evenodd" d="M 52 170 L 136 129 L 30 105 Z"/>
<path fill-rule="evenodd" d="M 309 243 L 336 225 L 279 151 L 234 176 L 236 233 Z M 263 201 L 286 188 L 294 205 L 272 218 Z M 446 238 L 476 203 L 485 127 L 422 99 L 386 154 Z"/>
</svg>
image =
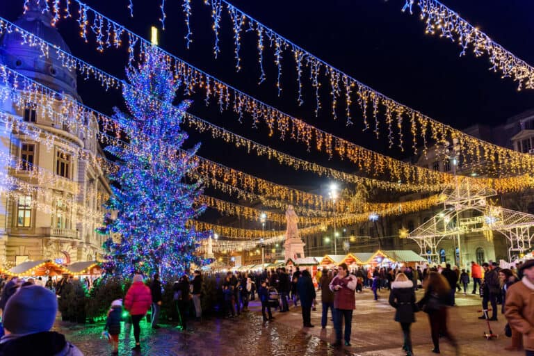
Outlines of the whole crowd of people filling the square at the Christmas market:
<svg viewBox="0 0 534 356">
<path fill-rule="evenodd" d="M 470 273 L 469 273 L 470 272 Z M 394 321 L 400 323 L 403 332 L 403 350 L 407 356 L 413 355 L 411 325 L 416 313 L 428 315 L 432 353 L 440 353 L 439 341 L 446 339 L 457 355 L 460 352 L 455 335 L 448 328 L 448 309 L 455 305 L 455 294 L 467 294 L 467 287 L 473 282 L 471 293 L 480 294 L 483 314 L 481 319 L 498 320 L 499 311 L 508 321 L 507 330 L 511 345 L 505 350 L 525 350 L 526 356 L 534 356 L 534 259 L 516 268 L 500 268 L 494 263 L 481 266 L 471 262 L 471 270 L 458 270 L 445 266 L 426 268 L 355 268 L 349 270 L 346 264 L 335 268 L 323 268 L 315 276 L 309 270 L 298 267 L 284 267 L 276 270 L 263 270 L 251 273 L 217 274 L 217 307 L 227 318 L 234 318 L 248 312 L 250 300 L 261 302 L 264 323 L 275 320 L 272 307 L 280 313 L 288 312 L 289 307 L 300 303 L 302 326 L 314 327 L 311 311 L 316 308 L 316 289 L 321 291 L 321 327 L 328 323 L 328 311 L 333 321 L 335 341 L 332 346 L 340 348 L 343 343 L 350 346 L 353 310 L 357 305 L 356 294 L 369 288 L 377 296 L 380 289 L 389 290 L 389 305 L 394 307 Z M 54 291 L 60 289 L 68 278 L 50 288 L 47 282 L 32 278 L 22 281 L 17 277 L 0 280 L 0 311 L 5 335 L 0 339 L 2 355 L 36 355 L 33 345 L 43 345 L 39 355 L 82 355 L 76 346 L 65 337 L 50 331 L 58 309 Z M 423 296 L 417 300 L 416 289 L 421 286 Z M 152 276 L 147 285 L 142 275 L 134 275 L 124 300 L 114 300 L 108 310 L 105 334 L 112 345 L 112 355 L 118 355 L 119 334 L 121 332 L 122 311 L 129 314 L 127 325 L 133 328 L 135 346 L 140 350 L 140 321 L 152 309 L 151 324 L 159 329 L 159 310 L 162 303 L 162 290 L 159 275 Z M 188 318 L 200 321 L 202 308 L 202 275 L 195 271 L 192 280 L 182 276 L 172 285 L 176 320 L 182 330 L 188 330 Z M 497 305 L 501 305 L 500 308 Z M 492 309 L 489 309 L 489 305 Z M 489 310 L 492 315 L 489 316 Z M 192 312 L 189 312 L 192 311 Z M 191 314 L 191 315 L 190 315 Z M 343 328 L 344 324 L 344 328 Z M 127 330 L 129 333 L 130 330 Z"/>
</svg>

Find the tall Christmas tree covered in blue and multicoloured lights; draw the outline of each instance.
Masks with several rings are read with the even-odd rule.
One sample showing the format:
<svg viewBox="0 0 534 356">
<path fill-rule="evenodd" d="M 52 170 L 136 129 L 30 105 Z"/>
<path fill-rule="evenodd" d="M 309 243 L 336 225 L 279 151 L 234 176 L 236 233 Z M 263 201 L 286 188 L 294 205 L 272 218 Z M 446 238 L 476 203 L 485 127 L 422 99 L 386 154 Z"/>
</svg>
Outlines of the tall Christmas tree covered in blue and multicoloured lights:
<svg viewBox="0 0 534 356">
<path fill-rule="evenodd" d="M 145 52 L 138 67 L 127 70 L 127 79 L 131 87 L 123 86 L 122 93 L 129 113 L 115 108 L 113 116 L 129 145 L 106 147 L 118 158 L 118 170 L 110 176 L 113 196 L 106 205 L 118 213 L 115 219 L 106 214 L 101 232 L 117 234 L 120 243 L 111 238 L 104 243 L 104 270 L 122 277 L 140 272 L 165 278 L 203 263 L 195 250 L 208 232 L 188 226 L 205 209 L 195 204 L 201 182 L 186 182 L 186 173 L 197 166 L 193 156 L 200 144 L 181 149 L 188 135 L 180 124 L 190 103 L 172 106 L 179 82 L 164 60 Z"/>
</svg>

